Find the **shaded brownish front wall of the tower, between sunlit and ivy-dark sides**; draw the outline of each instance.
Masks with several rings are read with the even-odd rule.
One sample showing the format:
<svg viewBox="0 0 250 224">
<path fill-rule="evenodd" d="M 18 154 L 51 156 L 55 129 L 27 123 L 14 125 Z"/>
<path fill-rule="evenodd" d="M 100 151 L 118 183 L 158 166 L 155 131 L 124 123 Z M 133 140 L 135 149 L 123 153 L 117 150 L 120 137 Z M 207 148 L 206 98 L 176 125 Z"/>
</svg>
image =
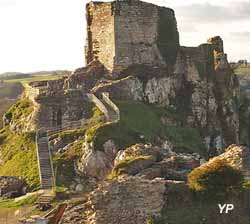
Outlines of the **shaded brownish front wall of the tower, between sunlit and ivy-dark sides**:
<svg viewBox="0 0 250 224">
<path fill-rule="evenodd" d="M 165 62 L 157 47 L 158 7 L 140 1 L 120 2 L 115 16 L 115 70 L 132 64 Z"/>
</svg>

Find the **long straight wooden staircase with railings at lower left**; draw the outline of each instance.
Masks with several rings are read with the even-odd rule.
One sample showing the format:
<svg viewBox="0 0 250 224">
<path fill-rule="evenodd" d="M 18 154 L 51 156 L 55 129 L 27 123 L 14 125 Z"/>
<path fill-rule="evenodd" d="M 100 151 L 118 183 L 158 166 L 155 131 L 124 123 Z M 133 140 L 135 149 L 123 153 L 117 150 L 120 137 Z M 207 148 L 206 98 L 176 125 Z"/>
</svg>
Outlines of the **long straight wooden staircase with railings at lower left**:
<svg viewBox="0 0 250 224">
<path fill-rule="evenodd" d="M 47 131 L 37 131 L 36 147 L 40 183 L 43 190 L 43 194 L 38 199 L 38 204 L 49 204 L 54 198 L 55 178 Z"/>
</svg>

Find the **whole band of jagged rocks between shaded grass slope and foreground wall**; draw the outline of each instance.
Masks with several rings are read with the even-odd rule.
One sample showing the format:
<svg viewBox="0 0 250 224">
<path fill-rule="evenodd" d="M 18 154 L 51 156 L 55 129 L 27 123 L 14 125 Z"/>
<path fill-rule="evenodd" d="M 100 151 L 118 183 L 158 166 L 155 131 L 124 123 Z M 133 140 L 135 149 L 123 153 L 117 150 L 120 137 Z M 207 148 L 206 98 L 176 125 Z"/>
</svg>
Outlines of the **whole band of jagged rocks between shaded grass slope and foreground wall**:
<svg viewBox="0 0 250 224">
<path fill-rule="evenodd" d="M 143 144 L 117 151 L 111 140 L 104 145 L 104 151 L 98 151 L 91 144 L 84 143 L 83 155 L 75 167 L 79 175 L 97 180 L 124 174 L 146 179 L 186 180 L 187 174 L 200 165 L 200 156 L 196 153 L 175 153 L 159 146 Z"/>
</svg>

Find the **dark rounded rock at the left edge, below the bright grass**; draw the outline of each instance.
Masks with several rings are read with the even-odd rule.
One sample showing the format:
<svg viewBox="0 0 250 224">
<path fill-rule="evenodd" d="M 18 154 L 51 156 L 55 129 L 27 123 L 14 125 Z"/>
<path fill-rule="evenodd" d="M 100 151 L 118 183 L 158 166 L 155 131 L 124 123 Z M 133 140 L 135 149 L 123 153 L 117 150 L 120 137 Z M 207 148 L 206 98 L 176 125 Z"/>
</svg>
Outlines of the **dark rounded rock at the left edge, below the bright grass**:
<svg viewBox="0 0 250 224">
<path fill-rule="evenodd" d="M 13 198 L 25 194 L 26 183 L 17 177 L 0 177 L 0 197 Z"/>
</svg>

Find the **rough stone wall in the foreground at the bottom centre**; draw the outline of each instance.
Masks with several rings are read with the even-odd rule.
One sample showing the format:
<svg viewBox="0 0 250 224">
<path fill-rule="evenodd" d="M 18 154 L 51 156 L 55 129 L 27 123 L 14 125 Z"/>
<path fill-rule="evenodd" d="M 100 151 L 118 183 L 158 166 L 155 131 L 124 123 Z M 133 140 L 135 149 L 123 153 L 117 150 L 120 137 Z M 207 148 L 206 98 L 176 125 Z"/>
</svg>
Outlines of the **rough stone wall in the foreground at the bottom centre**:
<svg viewBox="0 0 250 224">
<path fill-rule="evenodd" d="M 105 183 L 91 193 L 84 206 L 68 210 L 63 223 L 146 224 L 151 217 L 160 215 L 165 184 L 161 179 L 138 177 Z"/>
</svg>

